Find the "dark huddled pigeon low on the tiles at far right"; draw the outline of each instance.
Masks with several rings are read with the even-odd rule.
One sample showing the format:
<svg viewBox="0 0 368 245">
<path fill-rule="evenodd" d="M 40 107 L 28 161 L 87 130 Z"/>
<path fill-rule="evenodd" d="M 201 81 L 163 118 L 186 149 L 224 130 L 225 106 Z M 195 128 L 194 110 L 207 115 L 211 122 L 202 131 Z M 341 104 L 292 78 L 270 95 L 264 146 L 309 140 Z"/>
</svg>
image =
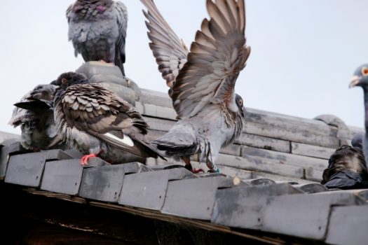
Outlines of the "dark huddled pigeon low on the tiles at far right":
<svg viewBox="0 0 368 245">
<path fill-rule="evenodd" d="M 323 171 L 322 184 L 327 188 L 368 188 L 367 165 L 362 148 L 340 146 L 329 158 Z"/>
</svg>

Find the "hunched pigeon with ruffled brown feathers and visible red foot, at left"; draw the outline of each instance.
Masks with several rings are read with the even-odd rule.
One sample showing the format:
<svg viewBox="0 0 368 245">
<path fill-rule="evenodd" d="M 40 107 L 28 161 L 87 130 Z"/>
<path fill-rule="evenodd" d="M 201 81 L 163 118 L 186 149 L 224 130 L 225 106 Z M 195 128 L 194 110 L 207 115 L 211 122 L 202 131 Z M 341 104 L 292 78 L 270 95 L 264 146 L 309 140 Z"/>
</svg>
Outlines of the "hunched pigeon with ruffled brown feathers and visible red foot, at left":
<svg viewBox="0 0 368 245">
<path fill-rule="evenodd" d="M 56 80 L 55 123 L 62 141 L 81 153 L 81 165 L 97 155 L 111 164 L 131 153 L 161 157 L 146 141 L 148 125 L 128 102 L 81 73 L 62 73 Z"/>
</svg>

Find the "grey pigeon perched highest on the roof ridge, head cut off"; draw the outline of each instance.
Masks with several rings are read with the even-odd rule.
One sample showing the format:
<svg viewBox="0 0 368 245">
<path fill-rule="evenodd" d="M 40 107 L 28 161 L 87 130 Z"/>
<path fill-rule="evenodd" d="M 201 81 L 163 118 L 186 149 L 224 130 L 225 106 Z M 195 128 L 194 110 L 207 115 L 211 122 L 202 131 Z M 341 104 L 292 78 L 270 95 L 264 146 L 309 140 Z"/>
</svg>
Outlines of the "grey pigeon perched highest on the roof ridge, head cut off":
<svg viewBox="0 0 368 245">
<path fill-rule="evenodd" d="M 121 1 L 77 0 L 67 8 L 68 37 L 74 55 L 85 62 L 114 63 L 125 76 L 127 9 Z"/>
</svg>

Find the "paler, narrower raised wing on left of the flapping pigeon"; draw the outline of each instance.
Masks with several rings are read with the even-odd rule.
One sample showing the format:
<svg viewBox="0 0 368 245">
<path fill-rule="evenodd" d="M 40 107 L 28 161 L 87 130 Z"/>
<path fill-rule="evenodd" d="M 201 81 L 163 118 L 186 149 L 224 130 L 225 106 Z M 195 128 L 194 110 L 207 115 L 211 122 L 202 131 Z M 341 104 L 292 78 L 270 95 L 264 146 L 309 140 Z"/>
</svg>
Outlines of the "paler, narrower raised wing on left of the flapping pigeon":
<svg viewBox="0 0 368 245">
<path fill-rule="evenodd" d="M 154 53 L 158 70 L 162 73 L 168 87 L 172 88 L 175 78 L 186 63 L 188 48 L 182 40 L 170 28 L 156 8 L 153 0 L 141 0 L 147 8 L 146 26 L 149 29 L 148 37 L 151 43 L 149 47 Z"/>
</svg>

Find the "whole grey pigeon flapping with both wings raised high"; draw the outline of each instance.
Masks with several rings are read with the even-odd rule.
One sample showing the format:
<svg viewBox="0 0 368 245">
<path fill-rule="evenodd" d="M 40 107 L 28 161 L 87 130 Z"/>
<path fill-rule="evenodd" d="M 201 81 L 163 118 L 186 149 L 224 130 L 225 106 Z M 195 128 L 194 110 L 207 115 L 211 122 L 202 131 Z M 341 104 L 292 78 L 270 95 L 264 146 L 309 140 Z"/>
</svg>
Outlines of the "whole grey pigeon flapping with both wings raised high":
<svg viewBox="0 0 368 245">
<path fill-rule="evenodd" d="M 243 99 L 234 92 L 250 47 L 245 44 L 243 0 L 207 0 L 210 20 L 204 19 L 190 50 L 172 31 L 154 1 L 141 0 L 147 8 L 149 46 L 166 80 L 177 123 L 152 141 L 166 156 L 184 160 L 193 173 L 192 155 L 205 162 L 208 172 L 222 146 L 231 144 L 243 129 Z"/>
</svg>

